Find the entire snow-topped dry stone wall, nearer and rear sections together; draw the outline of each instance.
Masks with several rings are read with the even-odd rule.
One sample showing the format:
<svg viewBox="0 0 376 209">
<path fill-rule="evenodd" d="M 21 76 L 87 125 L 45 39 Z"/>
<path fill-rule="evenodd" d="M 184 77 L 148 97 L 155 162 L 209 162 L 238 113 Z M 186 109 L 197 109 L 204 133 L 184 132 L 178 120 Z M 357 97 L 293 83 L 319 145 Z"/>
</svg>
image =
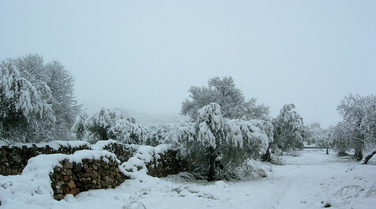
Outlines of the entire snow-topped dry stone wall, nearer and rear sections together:
<svg viewBox="0 0 376 209">
<path fill-rule="evenodd" d="M 115 188 L 126 179 L 143 178 L 146 174 L 153 177 L 178 174 L 189 165 L 179 153 L 172 145 L 152 147 L 114 140 L 94 145 L 83 141 L 54 141 L 2 146 L 0 175 L 22 173 L 22 176 L 50 177 L 54 198 L 61 200 L 67 194 L 75 196 L 90 189 Z M 38 171 L 45 174 L 28 175 Z"/>
</svg>

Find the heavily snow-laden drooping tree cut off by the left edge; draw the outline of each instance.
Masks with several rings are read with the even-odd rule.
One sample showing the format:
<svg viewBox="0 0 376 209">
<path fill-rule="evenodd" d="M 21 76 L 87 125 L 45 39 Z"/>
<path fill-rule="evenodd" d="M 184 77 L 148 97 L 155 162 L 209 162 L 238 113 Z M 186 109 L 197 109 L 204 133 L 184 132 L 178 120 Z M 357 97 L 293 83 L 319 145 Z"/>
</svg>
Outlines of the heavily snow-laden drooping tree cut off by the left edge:
<svg viewBox="0 0 376 209">
<path fill-rule="evenodd" d="M 41 140 L 40 124 L 55 122 L 50 88 L 21 77 L 12 63 L 0 64 L 0 134 L 2 138 L 36 142 Z"/>
</svg>

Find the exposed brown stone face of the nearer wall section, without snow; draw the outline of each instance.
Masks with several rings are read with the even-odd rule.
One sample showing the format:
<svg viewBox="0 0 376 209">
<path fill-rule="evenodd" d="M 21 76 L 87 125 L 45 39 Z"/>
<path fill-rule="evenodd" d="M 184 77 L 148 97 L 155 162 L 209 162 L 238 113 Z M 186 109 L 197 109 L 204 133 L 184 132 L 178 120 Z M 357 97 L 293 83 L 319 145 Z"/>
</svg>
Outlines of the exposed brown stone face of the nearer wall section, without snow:
<svg viewBox="0 0 376 209">
<path fill-rule="evenodd" d="M 108 163 L 106 161 L 108 160 Z M 60 162 L 51 177 L 54 198 L 61 200 L 67 194 L 77 195 L 90 189 L 115 188 L 129 179 L 120 172 L 119 164 L 111 159 L 82 159 L 82 163 Z"/>
</svg>

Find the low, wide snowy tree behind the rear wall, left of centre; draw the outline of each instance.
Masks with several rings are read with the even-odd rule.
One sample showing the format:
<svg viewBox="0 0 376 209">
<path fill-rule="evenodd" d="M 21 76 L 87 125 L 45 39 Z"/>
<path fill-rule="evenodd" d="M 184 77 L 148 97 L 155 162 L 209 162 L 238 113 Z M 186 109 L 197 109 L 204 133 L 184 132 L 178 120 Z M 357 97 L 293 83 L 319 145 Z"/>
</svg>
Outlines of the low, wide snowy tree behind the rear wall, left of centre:
<svg viewBox="0 0 376 209">
<path fill-rule="evenodd" d="M 84 137 L 90 141 L 114 139 L 135 144 L 143 143 L 146 135 L 145 128 L 129 122 L 119 111 L 104 108 L 93 115 L 77 116 L 72 131 L 79 139 Z"/>
</svg>

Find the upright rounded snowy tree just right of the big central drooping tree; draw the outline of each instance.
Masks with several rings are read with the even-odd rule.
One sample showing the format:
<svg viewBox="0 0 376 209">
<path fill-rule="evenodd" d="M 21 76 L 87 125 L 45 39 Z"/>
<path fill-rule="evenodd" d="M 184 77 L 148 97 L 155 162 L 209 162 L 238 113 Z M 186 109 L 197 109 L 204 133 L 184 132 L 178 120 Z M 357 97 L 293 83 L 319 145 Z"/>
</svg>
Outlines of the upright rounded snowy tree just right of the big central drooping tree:
<svg viewBox="0 0 376 209">
<path fill-rule="evenodd" d="M 278 148 L 287 151 L 292 148 L 303 148 L 303 119 L 295 110 L 295 105 L 284 105 L 279 115 L 272 120 L 274 126 L 274 142 Z"/>
</svg>

